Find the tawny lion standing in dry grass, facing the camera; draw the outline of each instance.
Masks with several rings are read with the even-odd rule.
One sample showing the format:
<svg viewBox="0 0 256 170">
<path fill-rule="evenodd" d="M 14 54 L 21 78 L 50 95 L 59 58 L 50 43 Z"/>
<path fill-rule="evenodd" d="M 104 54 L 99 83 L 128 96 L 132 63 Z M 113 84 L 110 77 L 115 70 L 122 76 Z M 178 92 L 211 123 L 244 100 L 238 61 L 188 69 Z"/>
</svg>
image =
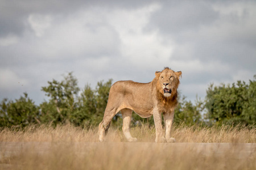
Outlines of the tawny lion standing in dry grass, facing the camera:
<svg viewBox="0 0 256 170">
<path fill-rule="evenodd" d="M 108 104 L 104 117 L 99 125 L 99 141 L 105 141 L 112 118 L 119 111 L 122 113 L 122 131 L 127 141 L 136 142 L 137 138 L 131 137 L 131 113 L 134 111 L 139 116 L 154 117 L 156 130 L 155 142 L 175 142 L 171 138 L 171 126 L 174 119 L 174 109 L 177 107 L 177 88 L 180 84 L 181 71 L 173 71 L 165 67 L 162 71 L 155 72 L 155 78 L 149 83 L 138 83 L 132 80 L 115 82 L 109 91 Z M 162 113 L 166 133 L 163 135 Z"/>
</svg>

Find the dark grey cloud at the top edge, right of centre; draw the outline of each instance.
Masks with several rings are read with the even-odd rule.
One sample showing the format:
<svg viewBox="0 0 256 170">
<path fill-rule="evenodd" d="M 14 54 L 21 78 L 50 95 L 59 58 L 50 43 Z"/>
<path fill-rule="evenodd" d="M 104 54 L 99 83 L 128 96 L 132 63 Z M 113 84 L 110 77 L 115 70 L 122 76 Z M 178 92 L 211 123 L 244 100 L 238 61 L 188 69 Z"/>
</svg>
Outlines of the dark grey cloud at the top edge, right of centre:
<svg viewBox="0 0 256 170">
<path fill-rule="evenodd" d="M 164 1 L 162 8 L 151 16 L 152 28 L 163 33 L 179 33 L 198 31 L 218 18 L 218 12 L 209 1 Z"/>
</svg>

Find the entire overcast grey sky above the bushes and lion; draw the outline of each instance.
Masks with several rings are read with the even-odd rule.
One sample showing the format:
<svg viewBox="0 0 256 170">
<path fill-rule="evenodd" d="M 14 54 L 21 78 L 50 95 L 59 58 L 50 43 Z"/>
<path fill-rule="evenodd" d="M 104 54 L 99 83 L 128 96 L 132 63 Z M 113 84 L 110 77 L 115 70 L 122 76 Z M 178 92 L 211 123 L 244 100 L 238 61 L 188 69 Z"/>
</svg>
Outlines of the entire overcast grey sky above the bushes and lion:
<svg viewBox="0 0 256 170">
<path fill-rule="evenodd" d="M 73 71 L 79 87 L 112 78 L 151 82 L 182 71 L 181 94 L 253 80 L 256 1 L 0 0 L 0 100 Z"/>
</svg>

